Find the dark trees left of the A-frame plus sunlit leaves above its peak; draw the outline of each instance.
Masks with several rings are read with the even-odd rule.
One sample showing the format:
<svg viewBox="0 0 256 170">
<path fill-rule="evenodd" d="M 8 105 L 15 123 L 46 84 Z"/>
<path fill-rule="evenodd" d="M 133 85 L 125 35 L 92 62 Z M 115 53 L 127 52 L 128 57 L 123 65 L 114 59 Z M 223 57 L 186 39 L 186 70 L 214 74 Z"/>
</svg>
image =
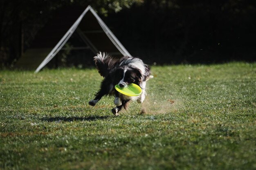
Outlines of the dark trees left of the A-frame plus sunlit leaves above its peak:
<svg viewBox="0 0 256 170">
<path fill-rule="evenodd" d="M 0 0 L 0 67 L 10 66 L 31 44 L 55 11 L 88 5 L 102 15 L 130 8 L 143 0 Z M 67 11 L 68 12 L 68 11 Z M 70 13 L 72 15 L 72 13 Z"/>
</svg>

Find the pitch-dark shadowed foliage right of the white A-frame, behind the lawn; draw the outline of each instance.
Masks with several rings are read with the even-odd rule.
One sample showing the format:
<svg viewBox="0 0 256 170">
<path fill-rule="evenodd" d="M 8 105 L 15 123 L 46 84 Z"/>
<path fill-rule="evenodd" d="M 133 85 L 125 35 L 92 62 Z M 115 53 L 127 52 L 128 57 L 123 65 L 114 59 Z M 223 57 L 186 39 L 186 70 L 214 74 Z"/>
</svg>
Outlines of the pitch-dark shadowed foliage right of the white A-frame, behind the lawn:
<svg viewBox="0 0 256 170">
<path fill-rule="evenodd" d="M 250 0 L 147 0 L 111 15 L 108 25 L 149 63 L 216 63 L 256 60 L 255 19 Z"/>
</svg>

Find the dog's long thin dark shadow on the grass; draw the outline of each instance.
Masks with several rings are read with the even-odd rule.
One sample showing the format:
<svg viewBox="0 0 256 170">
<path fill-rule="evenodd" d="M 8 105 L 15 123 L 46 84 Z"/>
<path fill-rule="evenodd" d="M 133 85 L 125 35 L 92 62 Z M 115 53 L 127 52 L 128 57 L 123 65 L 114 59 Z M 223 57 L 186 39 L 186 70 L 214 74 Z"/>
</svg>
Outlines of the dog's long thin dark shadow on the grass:
<svg viewBox="0 0 256 170">
<path fill-rule="evenodd" d="M 89 117 L 45 117 L 42 118 L 42 121 L 47 121 L 47 122 L 61 122 L 61 121 L 97 121 L 97 120 L 103 120 L 107 119 L 110 116 L 89 116 Z"/>
</svg>

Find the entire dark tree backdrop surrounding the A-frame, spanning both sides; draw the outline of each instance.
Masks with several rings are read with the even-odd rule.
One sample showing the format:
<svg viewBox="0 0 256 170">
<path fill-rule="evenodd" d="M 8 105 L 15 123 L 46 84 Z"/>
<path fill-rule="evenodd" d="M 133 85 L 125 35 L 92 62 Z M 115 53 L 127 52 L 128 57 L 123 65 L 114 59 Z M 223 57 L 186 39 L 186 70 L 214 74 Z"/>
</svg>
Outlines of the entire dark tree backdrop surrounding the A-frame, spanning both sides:
<svg viewBox="0 0 256 170">
<path fill-rule="evenodd" d="M 256 60 L 252 0 L 1 0 L 0 67 L 15 63 L 56 10 L 89 4 L 150 64 Z"/>
</svg>

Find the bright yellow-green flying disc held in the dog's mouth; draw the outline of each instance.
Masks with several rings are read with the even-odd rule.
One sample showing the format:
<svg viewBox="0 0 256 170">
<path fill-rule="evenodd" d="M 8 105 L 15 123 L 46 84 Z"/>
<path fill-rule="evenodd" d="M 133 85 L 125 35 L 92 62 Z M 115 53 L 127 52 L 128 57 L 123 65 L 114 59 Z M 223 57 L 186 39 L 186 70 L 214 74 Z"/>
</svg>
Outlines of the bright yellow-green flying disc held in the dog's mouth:
<svg viewBox="0 0 256 170">
<path fill-rule="evenodd" d="M 138 96 L 141 94 L 141 88 L 137 84 L 128 84 L 127 87 L 121 88 L 119 85 L 115 85 L 115 89 L 127 96 Z"/>
</svg>

